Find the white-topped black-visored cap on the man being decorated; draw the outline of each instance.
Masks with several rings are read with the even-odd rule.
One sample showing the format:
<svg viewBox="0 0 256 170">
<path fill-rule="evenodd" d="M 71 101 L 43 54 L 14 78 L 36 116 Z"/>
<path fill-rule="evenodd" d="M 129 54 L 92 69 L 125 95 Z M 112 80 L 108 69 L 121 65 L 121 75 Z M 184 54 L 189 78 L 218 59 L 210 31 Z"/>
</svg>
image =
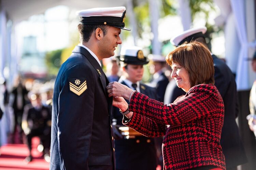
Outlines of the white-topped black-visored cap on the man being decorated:
<svg viewBox="0 0 256 170">
<path fill-rule="evenodd" d="M 130 31 L 125 28 L 126 8 L 124 6 L 91 8 L 77 11 L 76 15 L 80 16 L 80 23 L 85 25 L 108 25 Z"/>
</svg>

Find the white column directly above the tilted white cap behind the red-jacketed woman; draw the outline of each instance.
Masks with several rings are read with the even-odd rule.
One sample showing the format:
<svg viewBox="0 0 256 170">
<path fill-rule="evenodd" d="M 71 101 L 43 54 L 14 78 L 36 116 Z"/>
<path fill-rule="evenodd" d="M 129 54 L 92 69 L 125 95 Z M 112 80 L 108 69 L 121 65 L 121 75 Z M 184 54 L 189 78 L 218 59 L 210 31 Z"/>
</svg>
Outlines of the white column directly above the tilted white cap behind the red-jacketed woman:
<svg viewBox="0 0 256 170">
<path fill-rule="evenodd" d="M 179 14 L 183 25 L 183 31 L 190 29 L 191 26 L 191 10 L 188 0 L 179 0 Z"/>
</svg>

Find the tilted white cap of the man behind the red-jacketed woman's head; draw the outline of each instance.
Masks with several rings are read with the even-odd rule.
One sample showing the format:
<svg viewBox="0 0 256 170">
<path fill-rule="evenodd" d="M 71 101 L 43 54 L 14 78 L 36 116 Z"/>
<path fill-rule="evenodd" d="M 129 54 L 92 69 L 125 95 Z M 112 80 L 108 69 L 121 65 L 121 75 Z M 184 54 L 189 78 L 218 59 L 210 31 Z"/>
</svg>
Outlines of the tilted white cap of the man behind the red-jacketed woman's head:
<svg viewBox="0 0 256 170">
<path fill-rule="evenodd" d="M 184 31 L 179 35 L 176 35 L 170 40 L 170 42 L 172 45 L 178 47 L 182 44 L 190 43 L 191 41 L 194 41 L 199 37 L 204 37 L 206 31 L 206 27 L 192 28 Z"/>
</svg>

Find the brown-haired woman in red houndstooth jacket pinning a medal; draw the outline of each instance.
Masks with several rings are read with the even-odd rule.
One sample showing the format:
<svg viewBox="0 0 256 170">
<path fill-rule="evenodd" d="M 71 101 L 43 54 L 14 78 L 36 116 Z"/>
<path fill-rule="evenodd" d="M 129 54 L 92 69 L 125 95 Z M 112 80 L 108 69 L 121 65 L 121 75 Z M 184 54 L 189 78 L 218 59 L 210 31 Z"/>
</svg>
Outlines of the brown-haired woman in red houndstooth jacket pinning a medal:
<svg viewBox="0 0 256 170">
<path fill-rule="evenodd" d="M 113 105 L 125 115 L 123 124 L 145 136 L 165 136 L 163 169 L 226 169 L 219 143 L 224 104 L 214 86 L 209 50 L 192 42 L 177 47 L 166 61 L 173 69 L 171 77 L 186 95 L 165 105 L 112 82 L 107 89 L 109 96 L 115 96 Z"/>
</svg>

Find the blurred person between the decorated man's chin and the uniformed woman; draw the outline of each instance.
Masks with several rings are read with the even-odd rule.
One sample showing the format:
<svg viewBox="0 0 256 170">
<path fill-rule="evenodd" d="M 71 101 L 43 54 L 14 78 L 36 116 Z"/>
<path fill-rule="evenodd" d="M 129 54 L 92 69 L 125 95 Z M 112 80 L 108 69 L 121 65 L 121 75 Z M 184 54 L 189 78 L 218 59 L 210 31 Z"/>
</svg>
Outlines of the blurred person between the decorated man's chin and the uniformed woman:
<svg viewBox="0 0 256 170">
<path fill-rule="evenodd" d="M 110 74 L 108 76 L 109 82 L 117 82 L 119 80 L 119 66 L 116 62 L 116 58 L 114 56 L 110 57 L 111 62 L 108 63 L 107 65 L 107 73 L 106 74 Z"/>
</svg>

